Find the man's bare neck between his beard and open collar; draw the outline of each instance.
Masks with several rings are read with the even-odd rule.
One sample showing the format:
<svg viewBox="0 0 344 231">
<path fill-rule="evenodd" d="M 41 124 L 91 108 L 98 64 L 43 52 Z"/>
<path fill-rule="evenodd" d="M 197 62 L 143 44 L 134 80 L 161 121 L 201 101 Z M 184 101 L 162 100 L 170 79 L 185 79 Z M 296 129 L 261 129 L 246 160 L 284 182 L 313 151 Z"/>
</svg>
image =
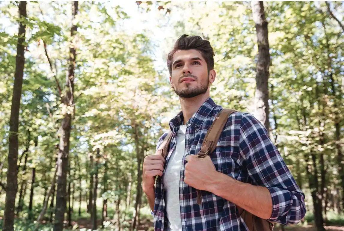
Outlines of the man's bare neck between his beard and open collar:
<svg viewBox="0 0 344 231">
<path fill-rule="evenodd" d="M 202 94 L 202 95 L 195 96 L 193 98 L 181 98 L 181 97 L 179 97 L 180 105 L 182 107 L 182 112 L 183 112 L 183 117 L 184 117 L 183 124 L 186 124 L 186 122 L 190 120 L 192 115 L 198 109 L 200 109 L 202 104 L 208 98 L 209 98 L 209 94 Z"/>
</svg>

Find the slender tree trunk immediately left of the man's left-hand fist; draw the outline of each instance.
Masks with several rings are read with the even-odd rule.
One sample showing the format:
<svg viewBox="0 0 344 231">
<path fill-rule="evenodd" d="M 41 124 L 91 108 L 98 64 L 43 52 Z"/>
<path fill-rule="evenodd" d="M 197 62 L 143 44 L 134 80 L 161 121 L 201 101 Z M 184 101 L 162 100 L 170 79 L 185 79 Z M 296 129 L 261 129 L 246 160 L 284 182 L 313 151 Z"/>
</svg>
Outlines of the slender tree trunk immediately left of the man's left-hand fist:
<svg viewBox="0 0 344 231">
<path fill-rule="evenodd" d="M 140 224 L 137 224 L 138 215 L 139 215 L 139 205 L 141 203 L 141 152 L 139 148 L 139 135 L 138 135 L 138 128 L 137 124 L 134 125 L 134 136 L 135 136 L 135 147 L 136 147 L 136 156 L 137 156 L 137 187 L 136 187 L 136 199 L 135 199 L 135 206 L 134 206 L 134 214 L 131 222 L 131 230 L 135 230 Z"/>
</svg>

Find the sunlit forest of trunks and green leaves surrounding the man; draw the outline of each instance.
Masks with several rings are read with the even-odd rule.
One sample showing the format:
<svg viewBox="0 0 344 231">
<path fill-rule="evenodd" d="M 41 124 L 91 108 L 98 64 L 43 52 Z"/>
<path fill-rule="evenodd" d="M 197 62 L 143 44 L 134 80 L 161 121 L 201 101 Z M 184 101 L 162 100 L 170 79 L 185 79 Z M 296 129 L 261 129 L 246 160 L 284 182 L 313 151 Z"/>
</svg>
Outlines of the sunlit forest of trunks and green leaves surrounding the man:
<svg viewBox="0 0 344 231">
<path fill-rule="evenodd" d="M 344 230 L 343 18 L 342 1 L 1 1 L 0 229 L 154 230 L 142 163 L 181 110 L 166 54 L 188 34 L 214 48 L 212 99 L 265 121 L 305 194 L 274 230 Z"/>
</svg>

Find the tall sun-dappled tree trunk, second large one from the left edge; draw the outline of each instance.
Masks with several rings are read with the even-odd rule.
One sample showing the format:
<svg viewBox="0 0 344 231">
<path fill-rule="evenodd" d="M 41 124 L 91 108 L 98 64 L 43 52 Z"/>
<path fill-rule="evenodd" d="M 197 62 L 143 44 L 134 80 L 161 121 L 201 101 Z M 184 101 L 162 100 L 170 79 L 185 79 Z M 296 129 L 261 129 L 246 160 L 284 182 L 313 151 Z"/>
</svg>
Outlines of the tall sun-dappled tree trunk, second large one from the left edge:
<svg viewBox="0 0 344 231">
<path fill-rule="evenodd" d="M 66 83 L 66 95 L 61 98 L 63 107 L 74 108 L 74 72 L 75 72 L 75 57 L 76 51 L 73 44 L 74 36 L 77 30 L 77 25 L 74 24 L 75 16 L 78 11 L 78 1 L 72 3 L 72 29 L 71 42 L 69 47 L 69 67 L 68 77 Z M 66 187 L 67 187 L 67 172 L 68 172 L 68 154 L 69 154 L 69 136 L 71 134 L 72 113 L 65 113 L 61 124 L 60 146 L 57 159 L 57 189 L 56 189 L 56 207 L 55 207 L 55 223 L 54 231 L 63 230 L 64 214 L 66 212 Z"/>
</svg>

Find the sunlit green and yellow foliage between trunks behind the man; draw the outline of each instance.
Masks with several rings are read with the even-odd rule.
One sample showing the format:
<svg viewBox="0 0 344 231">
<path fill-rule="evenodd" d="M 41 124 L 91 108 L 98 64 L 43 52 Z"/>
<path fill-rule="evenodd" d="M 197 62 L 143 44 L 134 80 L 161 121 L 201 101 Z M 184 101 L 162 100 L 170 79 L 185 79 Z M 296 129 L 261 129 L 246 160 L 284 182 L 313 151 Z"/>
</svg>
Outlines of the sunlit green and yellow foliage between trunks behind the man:
<svg viewBox="0 0 344 231">
<path fill-rule="evenodd" d="M 92 190 L 90 175 L 95 173 L 90 157 L 96 158 L 97 148 L 100 148 L 97 216 L 101 218 L 103 200 L 108 199 L 108 207 L 112 207 L 108 209 L 108 220 L 117 219 L 118 211 L 121 211 L 120 221 L 131 220 L 140 186 L 142 167 L 138 163 L 142 164 L 140 160 L 145 155 L 154 153 L 156 141 L 169 127 L 168 121 L 180 110 L 178 98 L 169 87 L 165 66 L 165 55 L 179 35 L 198 34 L 213 45 L 217 77 L 211 86 L 212 98 L 223 107 L 253 113 L 258 49 L 249 2 L 119 4 L 79 3 L 77 39 L 73 41 L 77 52 L 75 111 L 68 175 L 75 220 L 79 195 L 83 216 L 89 216 L 84 210 Z M 343 208 L 344 186 L 338 153 L 344 152 L 344 33 L 325 2 L 264 2 L 264 5 L 271 56 L 270 136 L 307 194 L 306 221 L 311 222 L 312 192 L 319 195 L 324 190 L 324 214 L 336 214 Z M 64 86 L 72 24 L 70 9 L 71 2 L 31 1 L 25 20 L 28 36 L 19 118 L 18 185 L 27 185 L 24 194 L 27 209 L 35 167 L 33 212 L 37 210 L 37 214 L 53 178 L 56 145 L 61 135 L 59 126 L 64 110 L 68 110 L 59 101 L 56 80 Z M 16 10 L 12 2 L 0 3 L 1 163 L 8 155 L 18 39 Z M 343 3 L 331 2 L 330 10 L 341 21 Z M 150 16 L 153 18 L 148 19 Z M 0 171 L 3 184 L 6 171 L 4 162 Z M 312 186 L 314 178 L 318 188 Z M 0 208 L 4 208 L 4 191 L 0 191 Z M 142 196 L 141 211 L 145 208 L 147 199 Z M 18 230 L 35 226 L 25 220 L 26 211 L 19 213 L 22 220 L 17 220 Z M 45 219 L 49 220 L 51 211 L 54 210 L 47 210 Z M 327 218 L 330 223 L 336 220 L 330 215 Z M 336 222 L 342 222 L 341 219 L 338 217 Z M 107 225 L 107 230 L 116 230 L 110 223 Z M 125 228 L 124 222 L 122 225 Z M 48 226 L 42 229 L 50 230 Z"/>
</svg>

